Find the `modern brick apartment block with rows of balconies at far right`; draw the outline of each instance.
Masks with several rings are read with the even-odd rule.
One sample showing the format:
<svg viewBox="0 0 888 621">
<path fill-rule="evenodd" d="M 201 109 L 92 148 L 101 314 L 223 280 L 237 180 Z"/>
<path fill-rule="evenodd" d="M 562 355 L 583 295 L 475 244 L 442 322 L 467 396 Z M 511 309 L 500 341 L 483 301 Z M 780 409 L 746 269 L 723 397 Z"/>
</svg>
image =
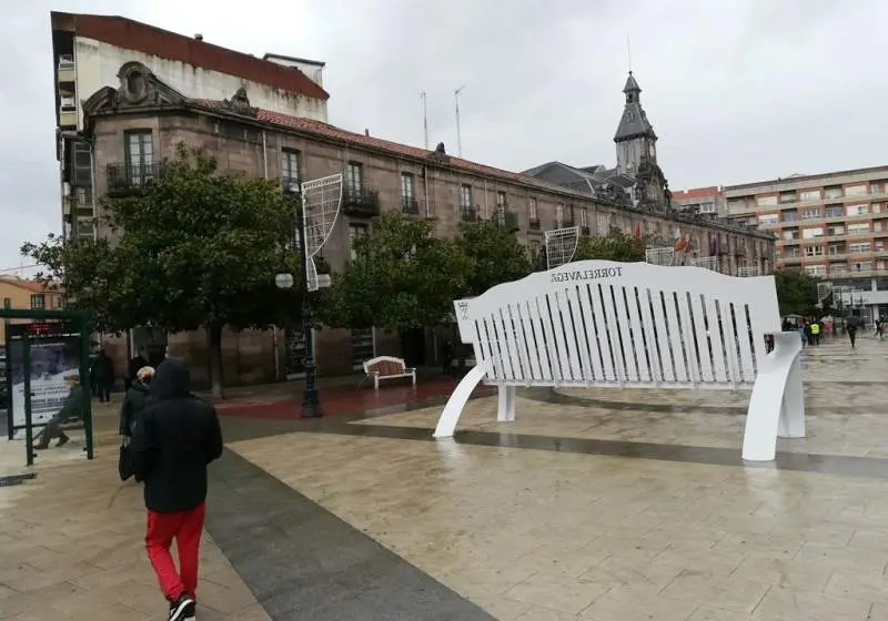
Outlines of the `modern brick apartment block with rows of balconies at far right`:
<svg viewBox="0 0 888 621">
<path fill-rule="evenodd" d="M 777 235 L 778 268 L 800 267 L 856 292 L 850 297 L 868 315 L 888 314 L 888 166 L 731 185 L 724 194 L 729 217 Z"/>
</svg>

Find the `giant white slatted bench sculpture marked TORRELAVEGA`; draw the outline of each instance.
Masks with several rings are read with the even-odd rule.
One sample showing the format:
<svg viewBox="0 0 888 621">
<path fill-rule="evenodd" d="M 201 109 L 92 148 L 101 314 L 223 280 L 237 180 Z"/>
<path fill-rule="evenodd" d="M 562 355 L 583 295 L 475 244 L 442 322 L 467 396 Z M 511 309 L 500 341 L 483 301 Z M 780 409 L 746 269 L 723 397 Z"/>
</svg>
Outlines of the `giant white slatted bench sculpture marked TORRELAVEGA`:
<svg viewBox="0 0 888 621">
<path fill-rule="evenodd" d="M 780 332 L 774 276 L 583 261 L 454 305 L 477 364 L 444 407 L 436 438 L 453 436 L 482 380 L 498 387 L 500 421 L 515 419 L 516 386 L 751 388 L 745 460 L 771 461 L 778 435 L 805 436 L 801 342 Z"/>
</svg>

